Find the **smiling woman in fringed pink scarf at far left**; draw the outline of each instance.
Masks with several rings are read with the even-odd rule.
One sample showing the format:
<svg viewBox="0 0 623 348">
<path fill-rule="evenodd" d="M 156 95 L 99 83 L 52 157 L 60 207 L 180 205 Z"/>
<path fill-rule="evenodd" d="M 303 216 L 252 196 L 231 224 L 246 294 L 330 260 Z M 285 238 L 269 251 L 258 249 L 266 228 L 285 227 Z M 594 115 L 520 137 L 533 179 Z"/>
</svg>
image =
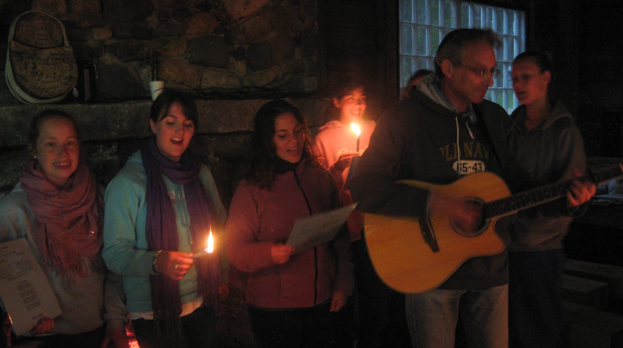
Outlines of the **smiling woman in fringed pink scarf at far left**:
<svg viewBox="0 0 623 348">
<path fill-rule="evenodd" d="M 100 256 L 102 196 L 80 162 L 75 122 L 63 111 L 44 110 L 28 137 L 32 161 L 0 200 L 0 242 L 26 238 L 62 314 L 43 317 L 12 343 L 95 348 L 113 341 L 127 347 L 120 278 L 107 275 Z"/>
</svg>

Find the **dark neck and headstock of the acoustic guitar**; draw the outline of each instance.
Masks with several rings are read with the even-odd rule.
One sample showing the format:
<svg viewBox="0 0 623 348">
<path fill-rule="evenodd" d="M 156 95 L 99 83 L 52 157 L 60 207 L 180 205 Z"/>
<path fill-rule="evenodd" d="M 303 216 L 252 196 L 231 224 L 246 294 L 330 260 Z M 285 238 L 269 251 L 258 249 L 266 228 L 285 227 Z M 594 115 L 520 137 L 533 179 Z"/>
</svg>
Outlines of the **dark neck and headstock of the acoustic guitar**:
<svg viewBox="0 0 623 348">
<path fill-rule="evenodd" d="M 620 177 L 623 177 L 622 163 L 591 173 L 591 179 L 596 185 L 601 185 Z M 527 190 L 510 197 L 488 202 L 483 208 L 483 218 L 492 219 L 501 215 L 513 214 L 565 197 L 571 182 L 571 180 L 557 182 L 556 184 L 537 187 L 536 189 Z"/>
</svg>

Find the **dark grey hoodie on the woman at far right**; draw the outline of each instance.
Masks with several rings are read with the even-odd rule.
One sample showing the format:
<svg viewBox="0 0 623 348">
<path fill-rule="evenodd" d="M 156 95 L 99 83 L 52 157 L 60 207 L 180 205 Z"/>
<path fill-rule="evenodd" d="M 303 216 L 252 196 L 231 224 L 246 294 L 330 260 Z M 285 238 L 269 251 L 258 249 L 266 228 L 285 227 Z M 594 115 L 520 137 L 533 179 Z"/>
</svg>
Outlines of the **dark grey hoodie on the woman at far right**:
<svg viewBox="0 0 623 348">
<path fill-rule="evenodd" d="M 513 193 L 572 179 L 573 169 L 586 171 L 582 136 L 564 105 L 556 103 L 543 125 L 530 131 L 524 126 L 524 105 L 513 111 L 511 118 L 505 177 Z M 581 214 L 585 208 L 574 215 Z M 536 251 L 562 248 L 573 216 L 566 208 L 566 199 L 562 198 L 520 212 L 511 219 L 510 250 Z"/>
</svg>

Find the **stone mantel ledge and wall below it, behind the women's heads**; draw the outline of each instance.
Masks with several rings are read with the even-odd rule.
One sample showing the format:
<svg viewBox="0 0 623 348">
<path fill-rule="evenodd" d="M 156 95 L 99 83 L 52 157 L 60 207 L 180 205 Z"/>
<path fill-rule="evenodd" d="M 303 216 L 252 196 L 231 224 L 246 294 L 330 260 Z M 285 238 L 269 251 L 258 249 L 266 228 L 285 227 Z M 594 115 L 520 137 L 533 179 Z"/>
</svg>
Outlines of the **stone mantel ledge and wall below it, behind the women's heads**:
<svg viewBox="0 0 623 348">
<path fill-rule="evenodd" d="M 300 108 L 314 131 L 323 122 L 328 101 L 288 98 Z M 253 126 L 253 117 L 268 99 L 196 100 L 198 125 L 191 148 L 215 172 L 219 190 L 229 205 L 237 167 L 244 156 Z M 0 192 L 16 184 L 29 153 L 27 129 L 32 117 L 54 108 L 74 116 L 83 141 L 83 160 L 95 171 L 98 181 L 107 184 L 131 153 L 150 136 L 151 101 L 107 104 L 60 104 L 0 106 Z"/>
</svg>

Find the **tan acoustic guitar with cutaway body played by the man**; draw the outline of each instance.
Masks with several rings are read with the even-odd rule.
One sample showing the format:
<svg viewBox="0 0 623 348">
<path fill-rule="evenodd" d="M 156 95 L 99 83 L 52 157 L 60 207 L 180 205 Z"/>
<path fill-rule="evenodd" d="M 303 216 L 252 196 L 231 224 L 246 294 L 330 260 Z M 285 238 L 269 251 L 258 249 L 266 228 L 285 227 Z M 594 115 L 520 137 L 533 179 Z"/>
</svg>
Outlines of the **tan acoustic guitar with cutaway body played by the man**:
<svg viewBox="0 0 623 348">
<path fill-rule="evenodd" d="M 623 177 L 623 163 L 591 175 L 597 185 Z M 423 217 L 365 214 L 364 235 L 370 259 L 381 280 L 401 293 L 424 293 L 444 283 L 470 258 L 503 252 L 495 233 L 501 217 L 566 196 L 571 181 L 558 182 L 511 195 L 506 183 L 491 172 L 471 174 L 448 185 L 404 180 L 399 183 L 470 200 L 483 207 L 483 223 L 466 235 L 446 212 Z"/>
</svg>

